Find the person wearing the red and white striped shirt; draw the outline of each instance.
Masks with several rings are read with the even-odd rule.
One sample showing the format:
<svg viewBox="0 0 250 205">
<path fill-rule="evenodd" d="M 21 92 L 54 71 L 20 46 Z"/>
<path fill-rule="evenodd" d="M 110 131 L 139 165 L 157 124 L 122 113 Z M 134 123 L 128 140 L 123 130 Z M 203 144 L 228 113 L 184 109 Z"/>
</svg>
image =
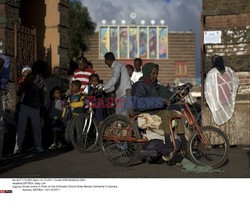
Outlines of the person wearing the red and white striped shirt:
<svg viewBox="0 0 250 205">
<path fill-rule="evenodd" d="M 83 92 L 85 87 L 89 84 L 89 77 L 95 71 L 88 66 L 88 60 L 85 57 L 78 58 L 78 69 L 74 72 L 72 81 L 79 80 L 82 84 L 80 91 Z"/>
</svg>

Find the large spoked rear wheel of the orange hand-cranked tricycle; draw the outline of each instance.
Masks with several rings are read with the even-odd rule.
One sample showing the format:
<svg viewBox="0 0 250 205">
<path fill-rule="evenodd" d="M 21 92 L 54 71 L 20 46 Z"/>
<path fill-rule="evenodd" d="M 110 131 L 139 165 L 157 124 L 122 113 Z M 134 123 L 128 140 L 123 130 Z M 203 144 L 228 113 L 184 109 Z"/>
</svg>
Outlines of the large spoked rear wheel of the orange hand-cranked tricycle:
<svg viewBox="0 0 250 205">
<path fill-rule="evenodd" d="M 123 115 L 109 116 L 100 129 L 99 144 L 106 158 L 115 165 L 130 166 L 138 159 L 141 143 L 115 141 L 108 137 L 141 138 L 135 122 Z"/>
</svg>

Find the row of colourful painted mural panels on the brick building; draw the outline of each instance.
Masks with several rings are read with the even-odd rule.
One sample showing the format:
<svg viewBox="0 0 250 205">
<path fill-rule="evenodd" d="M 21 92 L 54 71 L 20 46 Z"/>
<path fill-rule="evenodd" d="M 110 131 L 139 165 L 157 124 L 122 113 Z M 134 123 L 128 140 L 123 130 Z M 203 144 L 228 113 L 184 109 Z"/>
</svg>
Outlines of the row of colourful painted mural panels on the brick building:
<svg viewBox="0 0 250 205">
<path fill-rule="evenodd" d="M 100 58 L 113 52 L 118 59 L 167 59 L 167 26 L 115 26 L 100 27 Z"/>
</svg>

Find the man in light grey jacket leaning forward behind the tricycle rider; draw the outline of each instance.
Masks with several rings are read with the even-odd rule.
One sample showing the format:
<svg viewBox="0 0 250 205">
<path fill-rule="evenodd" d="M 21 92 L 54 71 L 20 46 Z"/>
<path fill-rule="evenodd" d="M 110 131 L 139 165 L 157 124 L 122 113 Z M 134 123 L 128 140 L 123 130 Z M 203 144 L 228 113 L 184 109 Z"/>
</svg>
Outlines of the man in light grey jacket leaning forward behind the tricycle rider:
<svg viewBox="0 0 250 205">
<path fill-rule="evenodd" d="M 128 105 L 126 98 L 131 96 L 131 82 L 128 75 L 127 68 L 122 63 L 115 59 L 112 52 L 108 52 L 104 56 L 105 64 L 112 70 L 111 80 L 104 86 L 107 93 L 116 91 L 116 114 L 127 115 Z"/>
</svg>

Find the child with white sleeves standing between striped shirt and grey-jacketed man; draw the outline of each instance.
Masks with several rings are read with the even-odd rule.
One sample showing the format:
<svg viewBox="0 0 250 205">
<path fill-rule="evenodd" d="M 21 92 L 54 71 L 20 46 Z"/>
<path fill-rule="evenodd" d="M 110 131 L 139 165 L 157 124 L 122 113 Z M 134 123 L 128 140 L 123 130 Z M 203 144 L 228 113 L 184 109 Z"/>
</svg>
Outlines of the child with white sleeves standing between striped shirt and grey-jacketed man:
<svg viewBox="0 0 250 205">
<path fill-rule="evenodd" d="M 89 78 L 89 85 L 85 88 L 84 92 L 87 96 L 95 96 L 96 98 L 103 98 L 103 85 L 100 83 L 98 74 L 92 74 Z M 104 120 L 105 114 L 103 108 L 95 108 L 95 118 L 98 122 Z"/>
</svg>

